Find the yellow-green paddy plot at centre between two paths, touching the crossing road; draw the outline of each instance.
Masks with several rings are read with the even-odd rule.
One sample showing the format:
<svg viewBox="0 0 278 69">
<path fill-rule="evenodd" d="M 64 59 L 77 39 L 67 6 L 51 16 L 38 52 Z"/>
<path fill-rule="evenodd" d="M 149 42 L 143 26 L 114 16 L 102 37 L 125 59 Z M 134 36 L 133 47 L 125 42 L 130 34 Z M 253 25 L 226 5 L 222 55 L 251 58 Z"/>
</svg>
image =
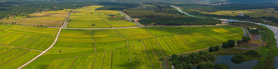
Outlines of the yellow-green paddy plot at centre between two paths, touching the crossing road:
<svg viewBox="0 0 278 69">
<path fill-rule="evenodd" d="M 127 45 L 127 41 L 123 36 L 114 29 L 92 30 L 92 32 L 96 48 L 111 50 Z"/>
</svg>

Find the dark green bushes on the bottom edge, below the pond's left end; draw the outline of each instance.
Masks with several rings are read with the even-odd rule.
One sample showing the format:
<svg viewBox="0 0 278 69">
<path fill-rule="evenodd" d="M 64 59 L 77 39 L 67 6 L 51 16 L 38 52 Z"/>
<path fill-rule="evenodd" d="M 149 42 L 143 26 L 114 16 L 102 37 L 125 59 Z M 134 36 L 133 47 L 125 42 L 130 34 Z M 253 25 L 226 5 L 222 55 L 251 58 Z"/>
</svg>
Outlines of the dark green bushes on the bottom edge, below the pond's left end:
<svg viewBox="0 0 278 69">
<path fill-rule="evenodd" d="M 215 63 L 200 63 L 197 65 L 198 69 L 229 69 L 228 65 Z"/>
</svg>

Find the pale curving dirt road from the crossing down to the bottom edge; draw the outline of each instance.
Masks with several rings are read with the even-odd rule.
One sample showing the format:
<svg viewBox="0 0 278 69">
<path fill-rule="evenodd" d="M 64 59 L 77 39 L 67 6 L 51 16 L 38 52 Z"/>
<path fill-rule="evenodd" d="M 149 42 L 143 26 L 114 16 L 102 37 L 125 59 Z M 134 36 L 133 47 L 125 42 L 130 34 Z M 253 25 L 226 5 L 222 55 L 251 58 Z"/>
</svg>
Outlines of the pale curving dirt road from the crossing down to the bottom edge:
<svg viewBox="0 0 278 69">
<path fill-rule="evenodd" d="M 41 52 L 41 54 L 37 55 L 36 57 L 34 57 L 33 59 L 31 59 L 29 62 L 21 65 L 20 67 L 18 67 L 17 69 L 21 69 L 23 67 L 25 67 L 26 65 L 28 65 L 29 63 L 33 62 L 34 60 L 36 60 L 37 58 L 39 58 L 40 56 L 42 56 L 44 53 L 46 53 L 48 50 L 50 50 L 55 44 L 56 42 L 58 41 L 58 37 L 60 35 L 60 32 L 61 32 L 62 28 L 59 29 L 59 32 L 56 36 L 56 38 L 54 39 L 54 42 L 50 45 L 50 47 L 48 47 L 46 50 L 44 50 L 43 52 Z"/>
</svg>

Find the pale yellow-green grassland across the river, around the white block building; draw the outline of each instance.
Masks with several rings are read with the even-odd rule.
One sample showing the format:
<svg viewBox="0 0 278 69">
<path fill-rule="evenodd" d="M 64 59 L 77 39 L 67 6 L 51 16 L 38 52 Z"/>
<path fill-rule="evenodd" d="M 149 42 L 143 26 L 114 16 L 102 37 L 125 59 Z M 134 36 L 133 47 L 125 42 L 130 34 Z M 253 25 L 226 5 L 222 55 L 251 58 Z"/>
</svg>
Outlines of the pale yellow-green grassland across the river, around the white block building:
<svg viewBox="0 0 278 69">
<path fill-rule="evenodd" d="M 232 13 L 232 12 L 235 12 L 235 13 Z M 239 12 L 243 12 L 244 15 L 249 15 L 251 17 L 262 17 L 262 16 L 278 17 L 278 14 L 275 14 L 278 12 L 275 11 L 274 8 L 248 9 L 248 10 L 237 10 L 237 11 L 202 12 L 202 13 L 215 14 L 215 15 L 226 15 L 226 16 L 237 16 L 237 15 L 239 15 Z M 274 12 L 274 13 L 272 13 L 272 12 Z"/>
</svg>

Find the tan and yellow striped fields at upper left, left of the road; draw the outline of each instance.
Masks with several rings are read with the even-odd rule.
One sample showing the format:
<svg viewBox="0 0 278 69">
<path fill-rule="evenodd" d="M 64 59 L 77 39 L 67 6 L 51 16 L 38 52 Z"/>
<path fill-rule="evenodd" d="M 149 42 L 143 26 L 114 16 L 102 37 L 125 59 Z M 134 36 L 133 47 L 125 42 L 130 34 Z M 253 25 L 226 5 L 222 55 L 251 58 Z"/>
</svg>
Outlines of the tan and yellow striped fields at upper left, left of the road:
<svg viewBox="0 0 278 69">
<path fill-rule="evenodd" d="M 33 14 L 30 14 L 30 16 L 39 16 L 39 17 L 26 18 L 26 17 L 16 16 L 13 19 L 10 18 L 10 19 L 0 20 L 0 22 L 58 27 L 63 24 L 64 20 L 68 16 L 67 13 L 69 10 L 70 9 L 33 13 Z"/>
</svg>

